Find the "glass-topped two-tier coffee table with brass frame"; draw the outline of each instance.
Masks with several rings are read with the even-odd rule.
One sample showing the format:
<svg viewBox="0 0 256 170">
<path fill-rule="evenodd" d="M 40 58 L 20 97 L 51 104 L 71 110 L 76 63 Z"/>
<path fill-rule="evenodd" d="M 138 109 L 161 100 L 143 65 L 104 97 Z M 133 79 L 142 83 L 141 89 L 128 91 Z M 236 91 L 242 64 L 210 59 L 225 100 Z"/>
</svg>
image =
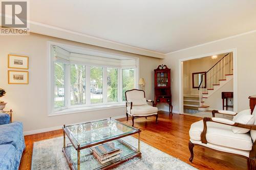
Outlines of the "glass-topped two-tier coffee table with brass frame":
<svg viewBox="0 0 256 170">
<path fill-rule="evenodd" d="M 140 132 L 140 129 L 111 118 L 72 126 L 64 125 L 62 151 L 73 170 L 109 169 L 134 157 L 141 157 Z M 138 134 L 138 143 L 129 144 L 122 139 L 133 134 Z M 91 147 L 110 141 L 122 152 L 119 158 L 102 164 L 94 157 Z M 137 144 L 138 147 L 135 148 L 134 145 Z"/>
</svg>

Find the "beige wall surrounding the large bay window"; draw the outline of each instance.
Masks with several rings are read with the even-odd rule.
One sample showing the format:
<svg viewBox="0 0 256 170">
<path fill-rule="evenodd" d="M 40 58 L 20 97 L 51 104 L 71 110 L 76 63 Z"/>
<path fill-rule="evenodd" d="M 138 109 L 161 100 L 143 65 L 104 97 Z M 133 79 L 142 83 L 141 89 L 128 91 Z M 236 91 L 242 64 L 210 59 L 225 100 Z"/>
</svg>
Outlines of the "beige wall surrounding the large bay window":
<svg viewBox="0 0 256 170">
<path fill-rule="evenodd" d="M 78 45 L 101 49 L 120 55 L 139 57 L 140 77 L 145 79 L 146 96 L 154 99 L 154 69 L 159 65 L 160 59 L 139 56 L 135 54 L 109 50 L 88 44 L 58 39 L 31 33 L 29 36 L 1 36 L 0 44 L 0 88 L 7 91 L 6 96 L 1 100 L 7 102 L 6 109 L 13 109 L 13 120 L 24 124 L 24 131 L 35 132 L 40 129 L 62 126 L 63 124 L 73 124 L 87 122 L 89 120 L 102 119 L 107 117 L 125 116 L 125 107 L 116 109 L 106 109 L 83 113 L 48 116 L 47 113 L 47 86 L 48 86 L 48 63 L 47 63 L 47 41 Z M 29 56 L 29 84 L 11 85 L 7 81 L 7 55 L 17 54 Z M 13 70 L 13 69 L 12 69 Z M 31 133 L 32 133 L 31 132 Z"/>
</svg>

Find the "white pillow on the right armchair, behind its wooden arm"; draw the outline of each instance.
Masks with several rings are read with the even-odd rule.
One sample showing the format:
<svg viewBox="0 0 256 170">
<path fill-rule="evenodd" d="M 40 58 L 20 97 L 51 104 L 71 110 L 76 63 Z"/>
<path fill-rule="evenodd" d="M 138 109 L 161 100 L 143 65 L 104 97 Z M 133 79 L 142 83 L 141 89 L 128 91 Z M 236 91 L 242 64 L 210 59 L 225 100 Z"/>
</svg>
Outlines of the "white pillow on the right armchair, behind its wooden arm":
<svg viewBox="0 0 256 170">
<path fill-rule="evenodd" d="M 240 124 L 253 125 L 254 116 L 251 115 L 250 109 L 243 110 L 233 117 L 233 122 L 240 123 Z M 243 134 L 243 133 L 249 132 L 250 130 L 245 128 L 232 127 L 232 131 L 233 133 Z"/>
</svg>

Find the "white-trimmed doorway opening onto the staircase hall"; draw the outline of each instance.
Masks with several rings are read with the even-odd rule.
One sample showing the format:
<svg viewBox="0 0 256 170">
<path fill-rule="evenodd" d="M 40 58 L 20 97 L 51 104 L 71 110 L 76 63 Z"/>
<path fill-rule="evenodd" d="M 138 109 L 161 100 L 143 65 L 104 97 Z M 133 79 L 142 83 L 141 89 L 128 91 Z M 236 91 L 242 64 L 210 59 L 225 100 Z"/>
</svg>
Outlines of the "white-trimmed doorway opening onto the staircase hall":
<svg viewBox="0 0 256 170">
<path fill-rule="evenodd" d="M 180 113 L 211 117 L 223 106 L 237 112 L 236 61 L 236 49 L 181 59 Z"/>
</svg>

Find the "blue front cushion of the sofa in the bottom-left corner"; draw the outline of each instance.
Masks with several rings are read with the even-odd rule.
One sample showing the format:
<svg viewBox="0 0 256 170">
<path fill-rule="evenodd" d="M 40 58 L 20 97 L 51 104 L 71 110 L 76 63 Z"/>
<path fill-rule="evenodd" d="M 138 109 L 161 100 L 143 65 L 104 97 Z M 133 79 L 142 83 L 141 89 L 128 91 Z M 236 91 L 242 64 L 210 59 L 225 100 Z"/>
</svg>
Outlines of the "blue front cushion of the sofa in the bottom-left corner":
<svg viewBox="0 0 256 170">
<path fill-rule="evenodd" d="M 15 148 L 11 144 L 0 145 L 0 169 L 15 169 Z"/>
</svg>

